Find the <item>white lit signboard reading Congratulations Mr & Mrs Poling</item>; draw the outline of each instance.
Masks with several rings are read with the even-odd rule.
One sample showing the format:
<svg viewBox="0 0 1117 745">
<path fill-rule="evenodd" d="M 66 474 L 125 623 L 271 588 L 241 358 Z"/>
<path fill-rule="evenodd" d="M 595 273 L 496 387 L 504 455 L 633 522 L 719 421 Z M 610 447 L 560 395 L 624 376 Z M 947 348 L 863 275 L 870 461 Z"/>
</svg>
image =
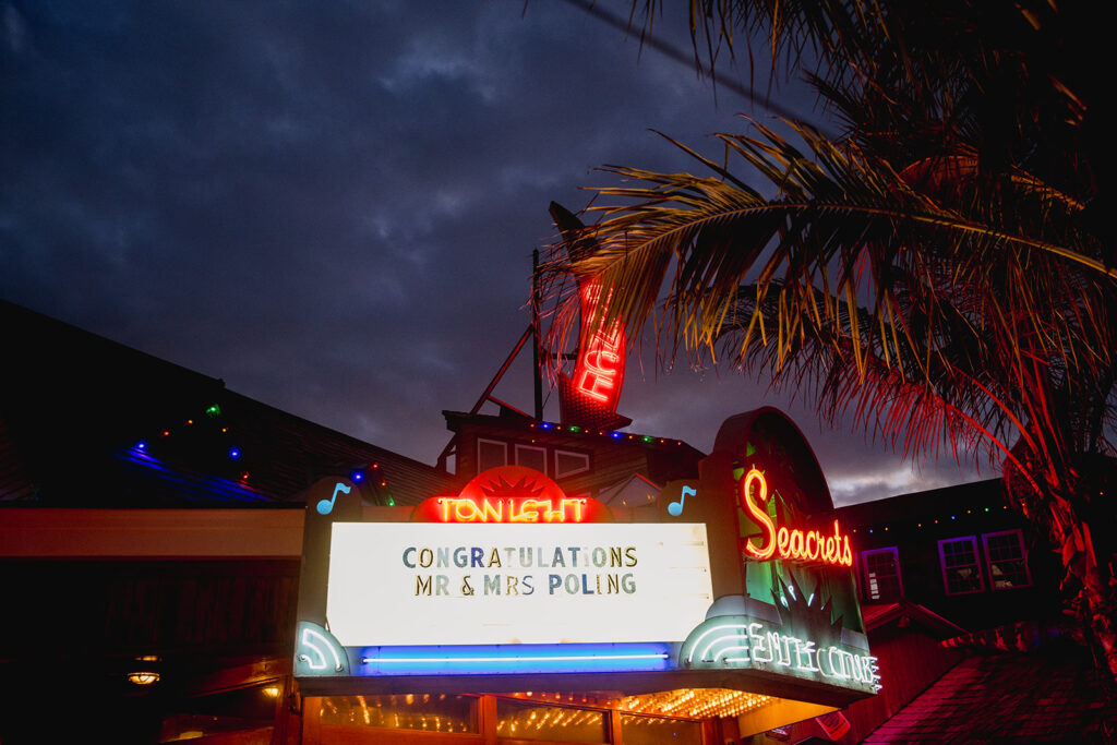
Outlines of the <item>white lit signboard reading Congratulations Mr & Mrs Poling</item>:
<svg viewBox="0 0 1117 745">
<path fill-rule="evenodd" d="M 344 647 L 671 642 L 710 593 L 704 525 L 341 523 L 326 617 Z"/>
</svg>

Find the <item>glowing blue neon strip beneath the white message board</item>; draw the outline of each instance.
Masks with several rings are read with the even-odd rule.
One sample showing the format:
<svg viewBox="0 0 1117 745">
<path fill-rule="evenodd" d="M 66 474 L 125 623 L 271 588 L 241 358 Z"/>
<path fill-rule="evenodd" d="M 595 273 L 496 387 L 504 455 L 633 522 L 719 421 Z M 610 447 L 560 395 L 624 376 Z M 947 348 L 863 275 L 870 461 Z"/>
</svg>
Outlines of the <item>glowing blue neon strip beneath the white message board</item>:
<svg viewBox="0 0 1117 745">
<path fill-rule="evenodd" d="M 667 670 L 666 643 L 365 647 L 357 675 L 493 675 Z"/>
</svg>

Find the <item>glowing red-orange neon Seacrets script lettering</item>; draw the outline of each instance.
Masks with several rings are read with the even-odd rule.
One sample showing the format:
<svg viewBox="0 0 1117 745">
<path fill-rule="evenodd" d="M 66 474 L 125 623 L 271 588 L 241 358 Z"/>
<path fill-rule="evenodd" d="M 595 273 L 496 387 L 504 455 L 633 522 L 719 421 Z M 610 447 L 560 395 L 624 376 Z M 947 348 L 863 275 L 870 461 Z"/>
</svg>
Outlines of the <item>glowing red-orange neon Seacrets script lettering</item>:
<svg viewBox="0 0 1117 745">
<path fill-rule="evenodd" d="M 753 493 L 754 483 L 758 486 L 758 495 Z M 776 528 L 767 510 L 761 506 L 766 502 L 767 481 L 764 480 L 764 474 L 753 468 L 741 479 L 741 507 L 761 526 L 764 537 L 760 546 L 754 545 L 751 538 L 743 541 L 742 548 L 748 556 L 766 561 L 779 551 L 780 558 L 823 562 L 837 566 L 853 565 L 849 536 L 841 534 L 838 520 L 834 520 L 833 535 L 824 535 L 820 531 L 789 529 L 783 525 Z"/>
</svg>

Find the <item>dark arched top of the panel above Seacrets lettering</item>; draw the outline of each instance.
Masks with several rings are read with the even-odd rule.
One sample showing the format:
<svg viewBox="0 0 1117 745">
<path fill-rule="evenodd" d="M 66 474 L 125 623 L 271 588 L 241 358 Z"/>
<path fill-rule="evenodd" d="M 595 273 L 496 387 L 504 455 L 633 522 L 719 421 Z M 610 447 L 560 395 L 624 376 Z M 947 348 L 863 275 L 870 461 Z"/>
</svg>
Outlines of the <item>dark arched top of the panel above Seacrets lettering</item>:
<svg viewBox="0 0 1117 745">
<path fill-rule="evenodd" d="M 753 453 L 761 442 L 777 442 L 786 464 L 793 468 L 795 481 L 802 491 L 801 508 L 808 513 L 825 513 L 833 509 L 833 499 L 825 476 L 819 466 L 814 451 L 806 438 L 791 419 L 779 409 L 762 407 L 729 417 L 722 422 L 714 440 L 714 452 L 724 452 L 748 470 L 751 458 L 763 458 L 766 453 Z"/>
</svg>

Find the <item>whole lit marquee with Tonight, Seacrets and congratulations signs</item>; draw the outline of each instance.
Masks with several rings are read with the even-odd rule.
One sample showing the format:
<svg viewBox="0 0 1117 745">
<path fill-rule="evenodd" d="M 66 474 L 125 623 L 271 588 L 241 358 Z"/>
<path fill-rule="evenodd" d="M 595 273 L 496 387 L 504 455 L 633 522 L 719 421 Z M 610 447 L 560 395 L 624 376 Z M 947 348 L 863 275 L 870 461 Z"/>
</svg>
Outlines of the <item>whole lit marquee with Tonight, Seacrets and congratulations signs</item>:
<svg viewBox="0 0 1117 745">
<path fill-rule="evenodd" d="M 573 675 L 563 690 L 875 693 L 849 538 L 751 437 L 755 467 L 715 449 L 621 522 L 517 466 L 414 508 L 362 508 L 356 485 L 319 483 L 308 504 L 337 508 L 307 510 L 304 690 L 529 690 Z"/>
</svg>

